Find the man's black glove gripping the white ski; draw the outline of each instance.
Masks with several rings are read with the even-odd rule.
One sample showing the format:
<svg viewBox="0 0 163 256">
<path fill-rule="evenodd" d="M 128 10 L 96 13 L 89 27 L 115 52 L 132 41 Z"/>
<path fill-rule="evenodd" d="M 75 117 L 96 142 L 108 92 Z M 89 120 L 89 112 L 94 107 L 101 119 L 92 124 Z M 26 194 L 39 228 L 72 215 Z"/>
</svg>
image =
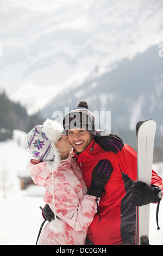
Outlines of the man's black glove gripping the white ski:
<svg viewBox="0 0 163 256">
<path fill-rule="evenodd" d="M 132 184 L 133 197 L 131 203 L 136 206 L 142 206 L 150 203 L 157 203 L 161 189 L 151 187 L 145 182 L 137 181 Z"/>
</svg>

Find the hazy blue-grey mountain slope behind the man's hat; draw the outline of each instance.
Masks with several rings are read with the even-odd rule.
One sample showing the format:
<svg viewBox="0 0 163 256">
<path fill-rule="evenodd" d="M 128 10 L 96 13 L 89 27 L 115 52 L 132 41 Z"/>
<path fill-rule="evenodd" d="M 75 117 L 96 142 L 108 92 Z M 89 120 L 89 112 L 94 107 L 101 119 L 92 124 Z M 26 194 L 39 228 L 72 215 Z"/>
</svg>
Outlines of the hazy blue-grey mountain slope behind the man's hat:
<svg viewBox="0 0 163 256">
<path fill-rule="evenodd" d="M 61 111 L 65 115 L 65 107 L 72 110 L 79 100 L 86 100 L 92 112 L 111 111 L 112 130 L 135 132 L 137 121 L 154 119 L 157 133 L 162 134 L 162 97 L 162 58 L 158 56 L 158 47 L 153 46 L 133 59 L 116 63 L 112 71 L 103 75 L 98 74 L 97 67 L 80 86 L 54 97 L 41 114 L 52 118 L 55 111 Z"/>
</svg>

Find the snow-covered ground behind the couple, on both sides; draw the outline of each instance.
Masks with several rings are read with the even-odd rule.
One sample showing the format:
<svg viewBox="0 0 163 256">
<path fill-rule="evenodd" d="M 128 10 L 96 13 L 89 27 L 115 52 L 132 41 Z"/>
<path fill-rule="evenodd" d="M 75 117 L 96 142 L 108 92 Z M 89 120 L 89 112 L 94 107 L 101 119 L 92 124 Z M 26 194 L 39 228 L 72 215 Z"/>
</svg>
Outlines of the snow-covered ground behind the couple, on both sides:
<svg viewBox="0 0 163 256">
<path fill-rule="evenodd" d="M 27 171 L 30 155 L 22 143 L 26 134 L 15 131 L 14 135 L 13 140 L 0 142 L 0 245 L 35 245 L 43 222 L 39 206 L 45 205 L 44 190 L 35 185 L 20 190 L 18 174 Z M 153 168 L 163 177 L 163 163 L 154 164 Z M 155 214 L 156 205 L 151 204 L 149 241 L 151 245 L 163 245 L 163 202 L 159 210 L 160 230 Z"/>
</svg>

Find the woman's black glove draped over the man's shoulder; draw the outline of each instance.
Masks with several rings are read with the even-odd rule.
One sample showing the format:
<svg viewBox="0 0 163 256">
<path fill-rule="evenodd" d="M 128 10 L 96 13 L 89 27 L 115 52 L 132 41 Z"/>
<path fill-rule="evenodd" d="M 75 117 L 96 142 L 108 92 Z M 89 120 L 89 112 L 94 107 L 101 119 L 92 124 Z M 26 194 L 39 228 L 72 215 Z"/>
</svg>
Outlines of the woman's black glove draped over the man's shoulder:
<svg viewBox="0 0 163 256">
<path fill-rule="evenodd" d="M 106 133 L 105 131 L 99 131 L 96 133 L 95 142 L 98 143 L 103 150 L 113 151 L 117 153 L 124 147 L 123 141 L 117 135 Z"/>
</svg>

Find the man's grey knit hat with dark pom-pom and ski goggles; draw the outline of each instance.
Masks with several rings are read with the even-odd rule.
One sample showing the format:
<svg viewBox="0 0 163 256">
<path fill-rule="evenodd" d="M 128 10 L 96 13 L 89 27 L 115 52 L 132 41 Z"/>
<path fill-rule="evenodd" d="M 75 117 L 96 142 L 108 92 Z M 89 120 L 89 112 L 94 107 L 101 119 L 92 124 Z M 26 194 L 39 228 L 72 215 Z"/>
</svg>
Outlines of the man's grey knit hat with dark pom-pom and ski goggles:
<svg viewBox="0 0 163 256">
<path fill-rule="evenodd" d="M 77 108 L 74 108 L 65 116 L 63 126 L 66 135 L 70 129 L 82 129 L 89 131 L 93 137 L 96 135 L 95 115 L 89 111 L 89 104 L 84 100 L 80 100 Z"/>
</svg>

